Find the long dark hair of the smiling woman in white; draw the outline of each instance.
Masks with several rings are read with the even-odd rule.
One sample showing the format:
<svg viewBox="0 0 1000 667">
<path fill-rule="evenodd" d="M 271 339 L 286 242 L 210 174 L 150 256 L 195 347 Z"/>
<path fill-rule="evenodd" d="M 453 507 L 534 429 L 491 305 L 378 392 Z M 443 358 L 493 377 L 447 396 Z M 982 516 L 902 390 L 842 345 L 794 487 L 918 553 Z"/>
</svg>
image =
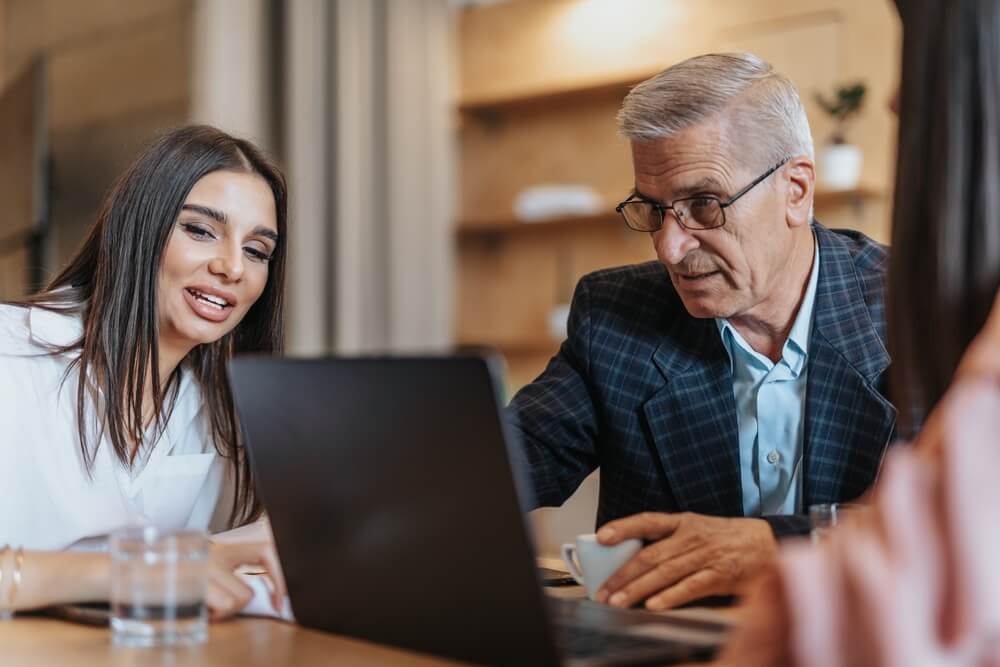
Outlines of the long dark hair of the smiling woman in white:
<svg viewBox="0 0 1000 667">
<path fill-rule="evenodd" d="M 97 442 L 89 442 L 94 435 L 86 420 L 89 400 L 102 409 L 96 426 L 107 433 L 118 460 L 131 466 L 132 443 L 141 443 L 145 431 L 147 373 L 158 436 L 169 418 L 181 372 L 178 366 L 161 390 L 156 300 L 160 262 L 188 193 L 215 171 L 249 172 L 267 181 L 279 235 L 257 302 L 232 331 L 194 348 L 185 360 L 201 387 L 215 448 L 230 462 L 235 498 L 229 521 L 238 525 L 259 516 L 261 507 L 226 364 L 234 354 L 277 353 L 282 348 L 287 194 L 281 171 L 250 142 L 213 127 L 195 125 L 164 134 L 114 184 L 69 265 L 44 290 L 19 303 L 81 315 L 81 339 L 58 351 L 79 351 L 74 364 L 79 371 L 76 411 L 83 460 L 89 471 L 97 453 Z"/>
</svg>

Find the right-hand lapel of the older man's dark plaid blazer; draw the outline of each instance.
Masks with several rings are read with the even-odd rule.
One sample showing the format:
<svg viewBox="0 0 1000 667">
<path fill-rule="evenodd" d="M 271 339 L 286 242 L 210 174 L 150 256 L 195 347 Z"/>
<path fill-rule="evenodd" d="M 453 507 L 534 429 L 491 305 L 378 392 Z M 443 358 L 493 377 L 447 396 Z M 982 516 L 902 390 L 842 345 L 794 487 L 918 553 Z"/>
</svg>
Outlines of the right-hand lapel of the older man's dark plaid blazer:
<svg viewBox="0 0 1000 667">
<path fill-rule="evenodd" d="M 803 506 L 850 500 L 878 475 L 896 423 L 877 385 L 889 366 L 848 249 L 816 226 L 820 275 L 809 339 Z"/>
</svg>

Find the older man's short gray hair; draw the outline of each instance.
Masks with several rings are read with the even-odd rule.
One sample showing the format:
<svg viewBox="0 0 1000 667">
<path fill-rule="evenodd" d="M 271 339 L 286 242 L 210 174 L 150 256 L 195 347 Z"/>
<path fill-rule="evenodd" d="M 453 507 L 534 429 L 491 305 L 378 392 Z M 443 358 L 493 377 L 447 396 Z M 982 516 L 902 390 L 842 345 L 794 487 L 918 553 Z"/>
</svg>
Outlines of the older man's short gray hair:
<svg viewBox="0 0 1000 667">
<path fill-rule="evenodd" d="M 689 58 L 633 88 L 618 112 L 618 131 L 655 141 L 725 113 L 733 136 L 752 140 L 760 157 L 813 159 L 812 132 L 795 87 L 750 53 Z"/>
</svg>

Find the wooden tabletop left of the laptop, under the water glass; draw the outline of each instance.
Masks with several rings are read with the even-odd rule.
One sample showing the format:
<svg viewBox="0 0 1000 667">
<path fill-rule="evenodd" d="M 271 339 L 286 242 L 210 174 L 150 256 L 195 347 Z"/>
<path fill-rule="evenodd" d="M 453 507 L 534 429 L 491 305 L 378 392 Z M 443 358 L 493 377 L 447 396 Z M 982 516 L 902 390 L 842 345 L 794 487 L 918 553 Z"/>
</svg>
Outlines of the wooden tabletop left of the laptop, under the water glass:
<svg viewBox="0 0 1000 667">
<path fill-rule="evenodd" d="M 365 665 L 441 667 L 458 663 L 308 630 L 264 618 L 239 618 L 209 627 L 208 642 L 177 649 L 125 649 L 111 631 L 55 619 L 0 621 L 3 667 L 278 667 Z"/>
</svg>

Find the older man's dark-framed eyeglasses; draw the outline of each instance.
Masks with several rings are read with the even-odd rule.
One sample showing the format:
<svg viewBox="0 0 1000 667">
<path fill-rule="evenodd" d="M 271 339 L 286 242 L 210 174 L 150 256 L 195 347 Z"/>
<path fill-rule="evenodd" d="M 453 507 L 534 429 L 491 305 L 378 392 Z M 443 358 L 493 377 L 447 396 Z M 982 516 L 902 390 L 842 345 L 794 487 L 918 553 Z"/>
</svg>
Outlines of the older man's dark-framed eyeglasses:
<svg viewBox="0 0 1000 667">
<path fill-rule="evenodd" d="M 663 218 L 667 211 L 673 213 L 678 224 L 684 229 L 694 231 L 702 229 L 715 229 L 726 224 L 726 209 L 736 203 L 740 197 L 754 189 L 761 181 L 773 174 L 783 164 L 791 158 L 785 158 L 774 165 L 750 185 L 746 186 L 729 199 L 723 201 L 715 195 L 695 195 L 694 197 L 684 197 L 676 199 L 670 204 L 645 199 L 642 195 L 634 193 L 628 199 L 615 207 L 615 211 L 625 219 L 625 224 L 629 229 L 637 232 L 655 232 L 663 227 Z"/>
</svg>

